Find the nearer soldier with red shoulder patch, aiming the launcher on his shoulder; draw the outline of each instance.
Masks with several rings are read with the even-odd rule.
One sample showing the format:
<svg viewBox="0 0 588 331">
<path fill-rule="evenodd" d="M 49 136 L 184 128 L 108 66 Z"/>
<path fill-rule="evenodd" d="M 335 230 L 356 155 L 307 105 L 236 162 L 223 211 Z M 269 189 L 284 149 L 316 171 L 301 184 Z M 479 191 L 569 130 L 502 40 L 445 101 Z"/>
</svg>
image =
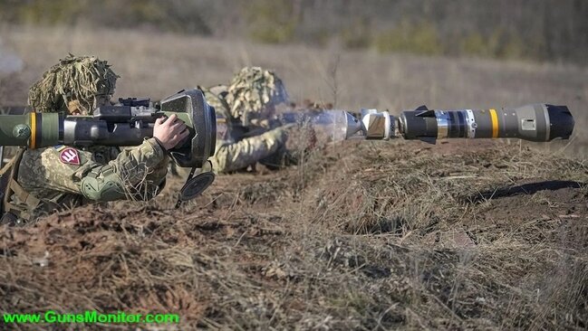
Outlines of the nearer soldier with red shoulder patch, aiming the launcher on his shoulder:
<svg viewBox="0 0 588 331">
<path fill-rule="evenodd" d="M 68 56 L 29 90 L 35 111 L 86 115 L 109 104 L 117 76 L 106 61 Z M 3 222 L 32 220 L 82 203 L 149 200 L 165 184 L 169 156 L 188 136 L 175 115 L 159 118 L 153 137 L 137 147 L 21 149 L 1 171 Z"/>
</svg>

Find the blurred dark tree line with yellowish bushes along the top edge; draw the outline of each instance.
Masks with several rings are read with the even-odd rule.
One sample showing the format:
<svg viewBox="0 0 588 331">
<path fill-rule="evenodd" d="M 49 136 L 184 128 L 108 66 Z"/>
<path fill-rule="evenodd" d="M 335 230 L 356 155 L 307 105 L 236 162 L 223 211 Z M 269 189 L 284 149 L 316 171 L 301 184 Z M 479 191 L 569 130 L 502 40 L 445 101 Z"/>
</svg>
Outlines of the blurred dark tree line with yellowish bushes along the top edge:
<svg viewBox="0 0 588 331">
<path fill-rule="evenodd" d="M 588 62 L 586 0 L 0 0 L 0 20 Z"/>
</svg>

